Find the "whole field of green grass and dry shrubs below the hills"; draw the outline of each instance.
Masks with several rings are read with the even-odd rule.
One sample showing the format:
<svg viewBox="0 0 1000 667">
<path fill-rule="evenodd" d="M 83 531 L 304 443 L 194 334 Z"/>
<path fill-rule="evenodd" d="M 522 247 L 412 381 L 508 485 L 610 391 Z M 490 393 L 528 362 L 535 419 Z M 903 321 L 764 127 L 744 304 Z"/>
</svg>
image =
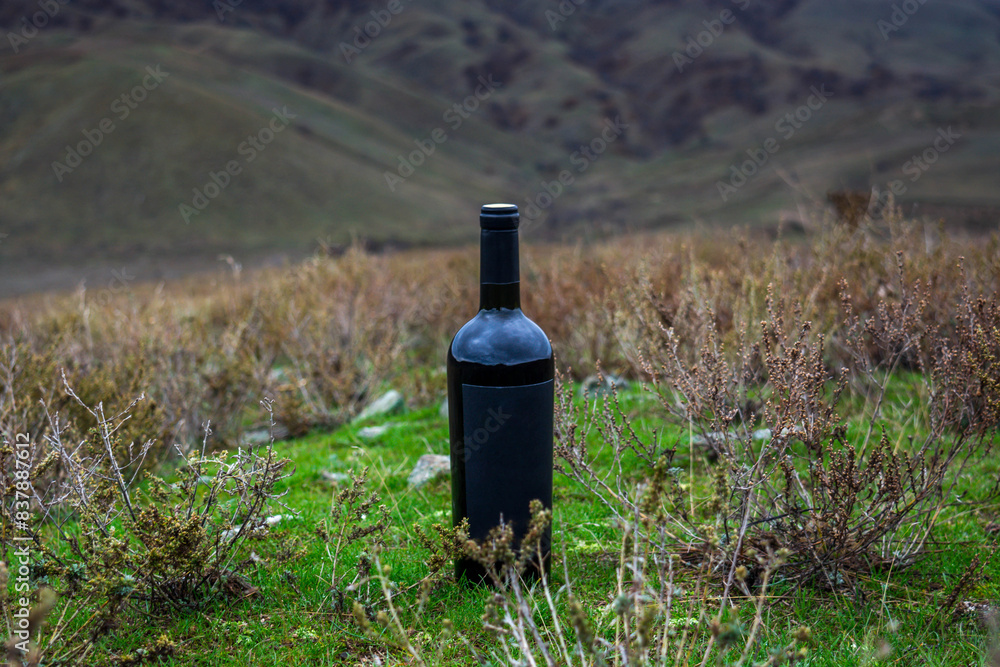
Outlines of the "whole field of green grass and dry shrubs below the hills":
<svg viewBox="0 0 1000 667">
<path fill-rule="evenodd" d="M 1000 239 L 894 217 L 528 249 L 563 369 L 538 582 L 509 532 L 449 526 L 446 480 L 405 481 L 447 451 L 475 267 L 354 248 L 4 304 L 0 560 L 31 536 L 27 662 L 1000 664 Z M 633 386 L 580 397 L 598 367 Z M 350 417 L 387 385 L 411 410 L 363 443 Z M 272 416 L 287 442 L 260 440 Z M 459 553 L 500 563 L 494 587 L 452 581 Z"/>
</svg>

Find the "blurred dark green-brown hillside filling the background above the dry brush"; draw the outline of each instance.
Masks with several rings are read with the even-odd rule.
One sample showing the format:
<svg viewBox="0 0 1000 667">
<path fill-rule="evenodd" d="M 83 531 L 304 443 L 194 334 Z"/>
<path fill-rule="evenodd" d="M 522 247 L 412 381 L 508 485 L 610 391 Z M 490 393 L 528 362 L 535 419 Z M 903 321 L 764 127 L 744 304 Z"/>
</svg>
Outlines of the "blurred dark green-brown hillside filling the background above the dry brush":
<svg viewBox="0 0 1000 667">
<path fill-rule="evenodd" d="M 918 214 L 1000 210 L 995 0 L 216 5 L 72 2 L 8 36 L 0 273 L 467 241 L 494 199 L 543 204 L 526 233 L 545 238 L 801 223 L 831 190 L 893 181 Z M 4 3 L 4 33 L 37 11 Z M 274 109 L 294 117 L 248 147 Z"/>
</svg>

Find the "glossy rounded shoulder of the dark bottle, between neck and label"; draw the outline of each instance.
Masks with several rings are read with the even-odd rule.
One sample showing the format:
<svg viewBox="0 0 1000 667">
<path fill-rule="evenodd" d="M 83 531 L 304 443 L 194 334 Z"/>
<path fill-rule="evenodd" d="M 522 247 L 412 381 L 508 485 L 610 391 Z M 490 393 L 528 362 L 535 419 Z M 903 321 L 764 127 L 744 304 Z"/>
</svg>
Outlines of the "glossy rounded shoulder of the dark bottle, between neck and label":
<svg viewBox="0 0 1000 667">
<path fill-rule="evenodd" d="M 552 345 L 520 308 L 497 308 L 479 311 L 459 329 L 448 353 L 456 361 L 511 365 L 551 358 Z"/>
</svg>

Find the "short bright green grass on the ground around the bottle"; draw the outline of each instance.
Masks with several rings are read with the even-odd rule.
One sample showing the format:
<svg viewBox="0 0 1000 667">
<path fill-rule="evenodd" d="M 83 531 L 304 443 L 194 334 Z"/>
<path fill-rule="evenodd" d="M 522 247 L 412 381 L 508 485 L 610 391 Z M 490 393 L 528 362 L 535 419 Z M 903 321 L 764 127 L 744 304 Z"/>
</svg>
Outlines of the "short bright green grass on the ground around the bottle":
<svg viewBox="0 0 1000 667">
<path fill-rule="evenodd" d="M 658 404 L 642 392 L 627 392 L 623 404 L 641 434 L 663 427 L 656 413 Z M 323 471 L 358 473 L 364 468 L 369 471 L 371 488 L 389 509 L 382 562 L 391 567 L 389 578 L 402 591 L 395 600 L 404 610 L 404 623 L 415 623 L 411 639 L 438 637 L 442 622 L 449 619 L 469 642 L 489 653 L 494 639 L 481 625 L 489 590 L 447 582 L 431 593 L 419 619 L 414 620 L 408 611 L 417 598 L 415 585 L 427 574 L 424 563 L 429 555 L 418 546 L 414 527 L 447 525 L 451 517 L 447 478 L 412 489 L 406 477 L 422 454 L 447 452 L 448 432 L 437 405 L 396 415 L 389 421 L 396 426 L 377 444 L 362 442 L 357 436 L 359 426 L 348 425 L 276 445 L 279 455 L 290 457 L 295 464 L 294 475 L 282 488 L 287 491 L 282 500 L 295 516 L 281 521 L 269 536 L 249 544 L 259 557 L 247 571 L 259 589 L 256 595 L 180 617 L 128 618 L 100 641 L 93 657 L 113 662 L 166 634 L 177 643 L 179 652 L 160 663 L 165 665 L 375 664 L 376 656 L 382 664 L 402 664 L 402 652 L 365 637 L 350 614 L 349 603 L 346 609 L 338 607 L 330 592 L 330 559 L 315 533 L 317 524 L 329 516 L 334 495 L 341 488 L 326 481 Z M 683 440 L 684 435 L 668 429 L 663 437 L 666 441 L 673 437 Z M 691 481 L 696 493 L 707 488 L 709 475 L 700 457 L 691 459 L 682 447 L 675 464 L 694 471 Z M 961 486 L 972 496 L 981 494 L 995 483 L 998 468 L 995 459 L 977 462 Z M 558 474 L 554 508 L 554 579 L 564 583 L 567 571 L 574 593 L 592 618 L 600 618 L 615 589 L 620 546 L 611 512 L 594 502 L 585 489 Z M 278 507 L 272 513 L 288 514 Z M 880 572 L 863 580 L 862 594 L 856 597 L 813 589 L 793 592 L 777 578 L 765 606 L 765 629 L 756 658 L 764 659 L 767 650 L 787 644 L 791 633 L 805 624 L 816 639 L 805 663 L 810 666 L 986 664 L 986 636 L 979 620 L 969 615 L 941 617 L 938 607 L 975 555 L 986 560 L 995 552 L 997 538 L 984 530 L 994 520 L 995 507 L 965 504 L 948 510 L 937 541 L 923 560 L 903 571 Z M 281 552 L 296 541 L 303 547 L 302 555 L 284 562 Z M 339 576 L 351 578 L 359 550 L 349 549 L 342 557 Z M 690 575 L 683 572 L 678 581 L 685 588 L 691 585 Z M 356 595 L 364 597 L 363 591 Z M 1000 599 L 1000 561 L 990 561 L 967 597 Z M 750 601 L 740 605 L 740 618 L 747 625 L 752 607 Z M 468 656 L 463 644 L 449 640 L 443 660 L 435 664 L 470 664 Z M 728 657 L 735 659 L 737 655 Z"/>
</svg>

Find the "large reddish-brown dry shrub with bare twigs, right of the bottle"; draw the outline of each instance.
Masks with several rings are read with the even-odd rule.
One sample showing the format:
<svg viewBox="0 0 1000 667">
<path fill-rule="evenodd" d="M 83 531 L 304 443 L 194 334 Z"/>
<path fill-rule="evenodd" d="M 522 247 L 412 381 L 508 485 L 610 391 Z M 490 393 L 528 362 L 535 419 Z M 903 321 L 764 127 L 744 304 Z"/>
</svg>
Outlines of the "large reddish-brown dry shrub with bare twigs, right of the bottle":
<svg viewBox="0 0 1000 667">
<path fill-rule="evenodd" d="M 977 255 L 963 268 L 957 244 L 917 229 L 831 227 L 807 254 L 734 258 L 750 264 L 741 280 L 692 262 L 679 295 L 634 280 L 620 337 L 640 342 L 660 414 L 689 434 L 675 446 L 716 462 L 712 495 L 677 498 L 674 452 L 639 437 L 616 398 L 563 397 L 564 471 L 618 516 L 658 517 L 661 547 L 712 559 L 724 597 L 738 568 L 755 578 L 757 555 L 781 548 L 782 576 L 824 588 L 914 562 L 990 452 L 1000 401 L 996 243 L 963 248 Z M 644 487 L 629 483 L 637 463 Z"/>
</svg>

